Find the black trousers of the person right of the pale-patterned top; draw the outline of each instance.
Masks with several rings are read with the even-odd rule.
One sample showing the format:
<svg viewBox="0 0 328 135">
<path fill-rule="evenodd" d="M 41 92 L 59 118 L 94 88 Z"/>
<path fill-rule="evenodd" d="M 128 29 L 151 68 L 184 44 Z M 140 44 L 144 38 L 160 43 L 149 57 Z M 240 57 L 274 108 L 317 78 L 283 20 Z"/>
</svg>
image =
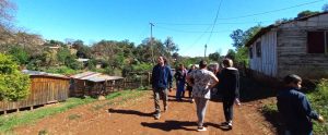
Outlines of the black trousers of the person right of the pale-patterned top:
<svg viewBox="0 0 328 135">
<path fill-rule="evenodd" d="M 223 96 L 222 97 L 224 118 L 225 118 L 226 122 L 230 122 L 233 120 L 234 100 L 235 100 L 235 98 L 232 96 Z"/>
</svg>

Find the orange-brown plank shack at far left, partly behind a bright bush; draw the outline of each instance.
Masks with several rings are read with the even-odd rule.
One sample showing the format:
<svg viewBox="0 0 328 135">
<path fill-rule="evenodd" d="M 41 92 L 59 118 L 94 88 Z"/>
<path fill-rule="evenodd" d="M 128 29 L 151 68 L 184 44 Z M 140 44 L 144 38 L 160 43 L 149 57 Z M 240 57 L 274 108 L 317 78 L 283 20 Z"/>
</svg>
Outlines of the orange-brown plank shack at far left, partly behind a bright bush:
<svg viewBox="0 0 328 135">
<path fill-rule="evenodd" d="M 31 78 L 30 95 L 20 101 L 0 101 L 0 112 L 33 109 L 35 106 L 63 101 L 69 97 L 69 77 L 28 70 L 24 70 L 23 73 L 28 74 Z"/>
</svg>

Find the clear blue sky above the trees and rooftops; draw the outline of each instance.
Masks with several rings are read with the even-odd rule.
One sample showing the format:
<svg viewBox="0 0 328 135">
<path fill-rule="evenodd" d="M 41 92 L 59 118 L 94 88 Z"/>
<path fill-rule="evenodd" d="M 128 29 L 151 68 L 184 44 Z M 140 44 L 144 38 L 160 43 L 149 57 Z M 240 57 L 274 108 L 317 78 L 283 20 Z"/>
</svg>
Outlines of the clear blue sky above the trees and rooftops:
<svg viewBox="0 0 328 135">
<path fill-rule="evenodd" d="M 321 11 L 328 0 L 13 0 L 15 25 L 45 39 L 82 39 L 86 45 L 128 39 L 136 45 L 153 36 L 172 37 L 181 56 L 203 57 L 233 49 L 230 34 L 304 10 Z M 221 3 L 221 7 L 220 7 Z M 304 4 L 306 3 L 306 4 Z M 219 10 L 220 9 L 220 10 Z M 218 14 L 216 25 L 212 25 Z M 274 12 L 271 12 L 274 11 Z M 207 32 L 207 33 L 203 33 Z M 210 36 L 211 35 L 211 36 Z"/>
</svg>

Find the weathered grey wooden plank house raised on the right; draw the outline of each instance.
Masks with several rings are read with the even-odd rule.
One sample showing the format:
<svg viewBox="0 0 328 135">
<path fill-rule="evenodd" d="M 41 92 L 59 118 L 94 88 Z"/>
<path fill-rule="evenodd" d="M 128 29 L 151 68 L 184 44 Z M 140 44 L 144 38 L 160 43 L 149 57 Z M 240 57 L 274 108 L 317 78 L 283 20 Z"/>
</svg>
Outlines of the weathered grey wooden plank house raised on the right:
<svg viewBox="0 0 328 135">
<path fill-rule="evenodd" d="M 255 76 L 328 77 L 328 12 L 261 28 L 246 47 Z"/>
</svg>

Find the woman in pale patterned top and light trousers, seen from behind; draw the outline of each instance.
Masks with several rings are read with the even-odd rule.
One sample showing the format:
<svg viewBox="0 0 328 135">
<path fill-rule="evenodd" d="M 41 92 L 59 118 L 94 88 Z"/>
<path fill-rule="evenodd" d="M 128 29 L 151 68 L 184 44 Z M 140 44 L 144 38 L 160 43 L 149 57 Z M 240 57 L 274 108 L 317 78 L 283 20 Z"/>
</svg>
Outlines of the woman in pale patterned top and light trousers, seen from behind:
<svg viewBox="0 0 328 135">
<path fill-rule="evenodd" d="M 187 83 L 192 86 L 192 96 L 196 102 L 198 116 L 197 131 L 207 131 L 203 126 L 208 101 L 211 97 L 211 88 L 214 87 L 219 79 L 216 76 L 207 70 L 207 62 L 199 62 L 199 70 L 195 70 L 187 75 Z M 194 79 L 194 83 L 191 81 Z"/>
</svg>

